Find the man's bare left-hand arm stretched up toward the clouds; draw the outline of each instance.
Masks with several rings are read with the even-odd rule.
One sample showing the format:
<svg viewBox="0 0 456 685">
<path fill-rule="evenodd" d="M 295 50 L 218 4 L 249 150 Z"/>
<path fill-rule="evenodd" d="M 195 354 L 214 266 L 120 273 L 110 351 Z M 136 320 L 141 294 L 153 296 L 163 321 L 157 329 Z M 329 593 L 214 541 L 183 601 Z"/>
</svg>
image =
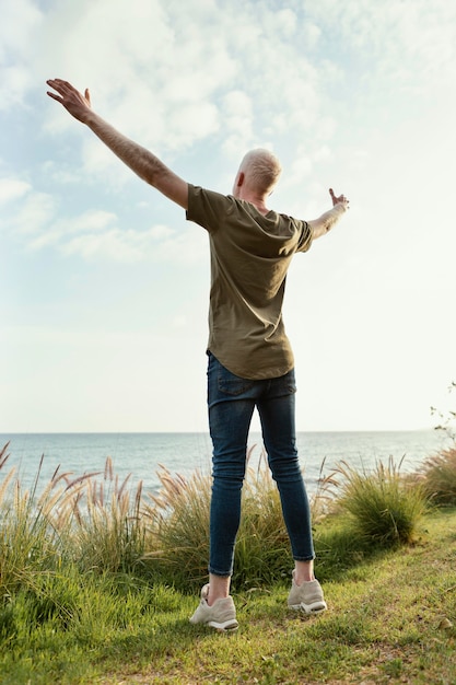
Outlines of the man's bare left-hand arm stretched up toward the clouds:
<svg viewBox="0 0 456 685">
<path fill-rule="evenodd" d="M 163 193 L 167 198 L 188 208 L 187 183 L 171 171 L 159 158 L 145 148 L 130 140 L 110 124 L 102 119 L 91 107 L 89 89 L 84 95 L 61 79 L 49 79 L 47 84 L 56 91 L 48 91 L 52 100 L 59 102 L 79 121 L 89 128 L 140 178 Z"/>
</svg>

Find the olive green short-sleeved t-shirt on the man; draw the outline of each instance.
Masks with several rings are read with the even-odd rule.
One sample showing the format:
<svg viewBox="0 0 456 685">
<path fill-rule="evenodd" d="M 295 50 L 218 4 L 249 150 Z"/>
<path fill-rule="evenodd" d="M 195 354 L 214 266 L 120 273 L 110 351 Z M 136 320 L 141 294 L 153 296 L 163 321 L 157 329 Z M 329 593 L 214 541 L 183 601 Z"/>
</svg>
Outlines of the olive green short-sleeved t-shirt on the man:
<svg viewBox="0 0 456 685">
<path fill-rule="evenodd" d="M 311 227 L 192 185 L 187 219 L 210 240 L 208 349 L 244 379 L 288 373 L 294 358 L 282 320 L 287 271 L 294 253 L 309 248 Z"/>
</svg>

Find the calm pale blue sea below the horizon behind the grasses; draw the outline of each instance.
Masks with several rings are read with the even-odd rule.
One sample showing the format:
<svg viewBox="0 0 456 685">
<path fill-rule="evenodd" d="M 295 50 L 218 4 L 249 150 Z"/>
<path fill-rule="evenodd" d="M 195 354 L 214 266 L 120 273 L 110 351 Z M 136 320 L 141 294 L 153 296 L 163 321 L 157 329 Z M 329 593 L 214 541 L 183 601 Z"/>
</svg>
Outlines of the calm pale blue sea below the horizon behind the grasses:
<svg viewBox="0 0 456 685">
<path fill-rule="evenodd" d="M 0 448 L 9 442 L 9 458 L 2 476 L 14 466 L 23 489 L 34 483 L 43 455 L 39 484 L 46 485 L 56 468 L 74 477 L 87 473 L 103 474 L 106 458 L 122 483 L 156 492 L 157 471 L 165 466 L 172 474 L 190 476 L 195 471 L 211 471 L 211 441 L 208 433 L 0 433 Z M 448 446 L 445 433 L 433 430 L 395 432 L 300 432 L 297 448 L 309 494 L 316 490 L 320 475 L 328 475 L 338 462 L 369 471 L 378 462 L 401 460 L 404 472 L 413 472 L 429 456 Z M 452 443 L 453 444 L 453 443 Z M 250 433 L 252 464 L 261 454 L 259 433 Z M 321 468 L 323 467 L 323 468 Z M 39 488 L 38 488 L 39 489 Z"/>
</svg>

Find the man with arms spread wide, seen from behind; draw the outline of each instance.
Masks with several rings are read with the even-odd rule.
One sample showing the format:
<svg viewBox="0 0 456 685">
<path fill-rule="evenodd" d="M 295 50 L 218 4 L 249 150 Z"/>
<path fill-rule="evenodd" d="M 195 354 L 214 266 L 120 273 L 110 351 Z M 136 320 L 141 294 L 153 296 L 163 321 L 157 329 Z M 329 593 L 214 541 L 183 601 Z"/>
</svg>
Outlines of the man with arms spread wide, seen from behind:
<svg viewBox="0 0 456 685">
<path fill-rule="evenodd" d="M 208 342 L 208 408 L 213 444 L 209 583 L 190 618 L 219 630 L 237 628 L 230 595 L 233 556 L 241 516 L 246 448 L 255 407 L 268 463 L 277 483 L 295 568 L 288 604 L 306 613 L 326 609 L 314 577 L 314 547 L 307 495 L 295 448 L 294 360 L 282 321 L 288 267 L 348 209 L 341 195 L 319 219 L 301 221 L 267 207 L 281 169 L 267 150 L 243 159 L 230 196 L 195 187 L 154 154 L 129 140 L 60 79 L 47 81 L 61 103 L 136 174 L 183 207 L 203 227 L 211 247 Z"/>
</svg>

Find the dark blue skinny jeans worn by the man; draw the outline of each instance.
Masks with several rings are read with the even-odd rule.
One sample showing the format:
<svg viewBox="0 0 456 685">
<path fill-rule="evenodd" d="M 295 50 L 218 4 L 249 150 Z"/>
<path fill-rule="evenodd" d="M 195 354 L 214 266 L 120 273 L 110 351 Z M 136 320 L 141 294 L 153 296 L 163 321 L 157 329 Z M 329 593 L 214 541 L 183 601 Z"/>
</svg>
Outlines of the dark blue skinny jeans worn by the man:
<svg viewBox="0 0 456 685">
<path fill-rule="evenodd" d="M 294 371 L 261 381 L 241 379 L 208 352 L 209 429 L 213 445 L 209 572 L 233 573 L 241 521 L 247 438 L 255 407 L 261 421 L 268 464 L 277 483 L 293 558 L 314 557 L 311 512 L 299 463 Z"/>
</svg>

